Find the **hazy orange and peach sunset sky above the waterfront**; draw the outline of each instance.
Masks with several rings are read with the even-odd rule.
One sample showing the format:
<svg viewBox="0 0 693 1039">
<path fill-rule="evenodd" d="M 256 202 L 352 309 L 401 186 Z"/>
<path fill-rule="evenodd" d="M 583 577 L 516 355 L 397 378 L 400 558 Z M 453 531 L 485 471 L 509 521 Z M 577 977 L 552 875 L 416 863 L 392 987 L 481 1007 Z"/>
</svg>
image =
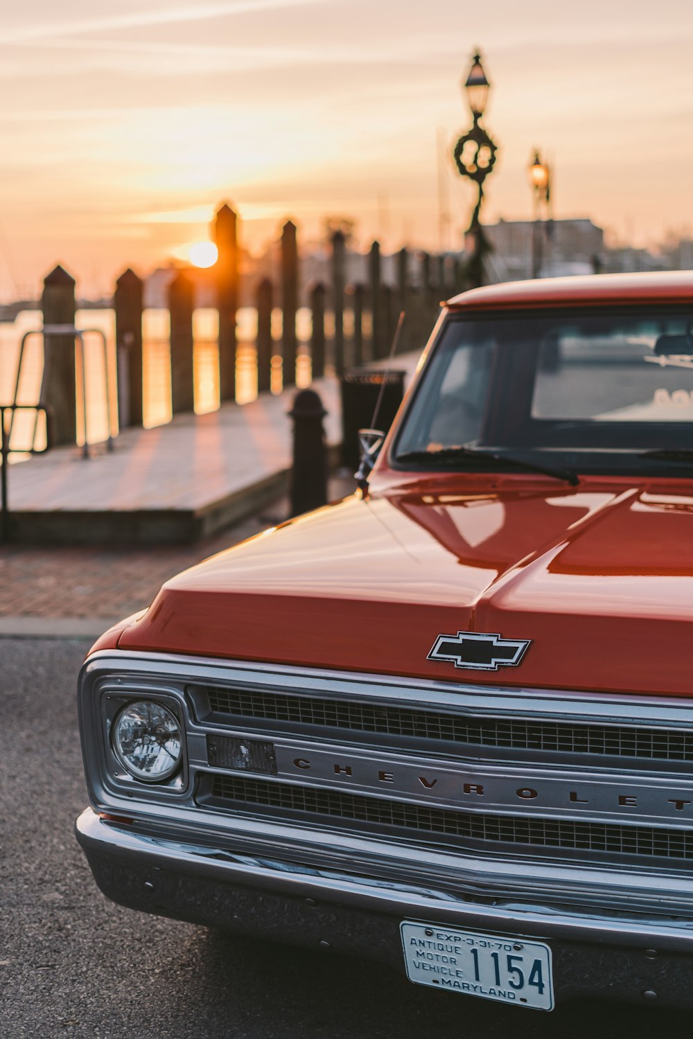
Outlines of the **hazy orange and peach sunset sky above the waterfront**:
<svg viewBox="0 0 693 1039">
<path fill-rule="evenodd" d="M 501 148 L 484 219 L 556 215 L 618 239 L 693 233 L 691 0 L 24 0 L 0 28 L 0 298 L 63 263 L 84 293 L 205 239 L 217 204 L 259 250 L 292 216 L 364 244 L 438 243 L 436 134 L 482 49 Z M 446 181 L 459 240 L 471 190 Z"/>
</svg>

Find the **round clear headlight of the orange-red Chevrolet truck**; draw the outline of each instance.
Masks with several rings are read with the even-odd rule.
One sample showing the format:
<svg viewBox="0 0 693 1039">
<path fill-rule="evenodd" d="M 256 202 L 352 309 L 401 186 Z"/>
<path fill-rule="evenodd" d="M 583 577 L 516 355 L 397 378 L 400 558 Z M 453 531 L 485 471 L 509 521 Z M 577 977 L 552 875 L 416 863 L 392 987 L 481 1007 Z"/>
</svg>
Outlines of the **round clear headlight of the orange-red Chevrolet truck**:
<svg viewBox="0 0 693 1039">
<path fill-rule="evenodd" d="M 176 716 L 155 700 L 128 703 L 113 722 L 113 752 L 144 782 L 168 779 L 181 765 L 183 734 Z"/>
</svg>

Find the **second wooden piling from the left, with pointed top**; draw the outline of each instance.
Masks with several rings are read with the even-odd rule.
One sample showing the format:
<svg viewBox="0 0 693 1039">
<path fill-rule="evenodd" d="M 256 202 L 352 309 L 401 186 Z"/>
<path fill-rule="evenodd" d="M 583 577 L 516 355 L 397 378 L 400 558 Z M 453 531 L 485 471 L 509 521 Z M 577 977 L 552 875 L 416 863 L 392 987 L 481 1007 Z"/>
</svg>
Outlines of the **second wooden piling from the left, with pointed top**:
<svg viewBox="0 0 693 1039">
<path fill-rule="evenodd" d="M 128 267 L 113 294 L 121 429 L 142 424 L 142 281 Z"/>
</svg>

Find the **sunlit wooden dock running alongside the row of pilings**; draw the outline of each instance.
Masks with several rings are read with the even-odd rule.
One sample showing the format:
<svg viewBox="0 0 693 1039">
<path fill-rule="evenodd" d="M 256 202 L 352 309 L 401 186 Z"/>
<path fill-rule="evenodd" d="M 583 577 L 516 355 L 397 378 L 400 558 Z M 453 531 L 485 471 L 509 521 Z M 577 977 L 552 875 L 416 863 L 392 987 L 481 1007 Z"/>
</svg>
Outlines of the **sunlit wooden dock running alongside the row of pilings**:
<svg viewBox="0 0 693 1039">
<path fill-rule="evenodd" d="M 418 354 L 389 366 L 414 371 Z M 373 366 L 376 367 L 376 366 Z M 327 444 L 341 442 L 340 387 L 316 380 Z M 212 534 L 275 501 L 288 487 L 295 389 L 165 426 L 127 429 L 113 452 L 88 459 L 56 448 L 8 471 L 14 541 L 181 543 Z"/>
</svg>

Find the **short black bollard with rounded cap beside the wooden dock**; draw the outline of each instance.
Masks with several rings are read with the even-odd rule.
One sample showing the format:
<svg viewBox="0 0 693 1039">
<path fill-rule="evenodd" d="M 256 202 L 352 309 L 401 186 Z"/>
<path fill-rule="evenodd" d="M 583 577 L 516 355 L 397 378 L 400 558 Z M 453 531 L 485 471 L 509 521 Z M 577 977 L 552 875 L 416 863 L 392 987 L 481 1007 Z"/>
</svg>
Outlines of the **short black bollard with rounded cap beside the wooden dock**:
<svg viewBox="0 0 693 1039">
<path fill-rule="evenodd" d="M 289 415 L 294 420 L 291 515 L 327 503 L 327 451 L 322 420 L 327 415 L 315 390 L 301 390 Z"/>
</svg>

